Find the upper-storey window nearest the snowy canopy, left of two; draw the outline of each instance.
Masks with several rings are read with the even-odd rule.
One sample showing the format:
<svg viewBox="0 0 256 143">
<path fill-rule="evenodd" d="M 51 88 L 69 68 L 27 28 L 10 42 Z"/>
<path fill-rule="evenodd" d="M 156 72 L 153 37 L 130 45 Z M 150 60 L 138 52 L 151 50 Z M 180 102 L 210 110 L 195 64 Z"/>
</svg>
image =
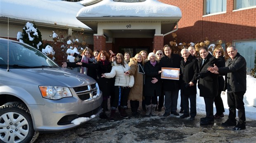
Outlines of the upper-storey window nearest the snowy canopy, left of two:
<svg viewBox="0 0 256 143">
<path fill-rule="evenodd" d="M 204 0 L 204 15 L 226 12 L 227 0 Z"/>
</svg>

